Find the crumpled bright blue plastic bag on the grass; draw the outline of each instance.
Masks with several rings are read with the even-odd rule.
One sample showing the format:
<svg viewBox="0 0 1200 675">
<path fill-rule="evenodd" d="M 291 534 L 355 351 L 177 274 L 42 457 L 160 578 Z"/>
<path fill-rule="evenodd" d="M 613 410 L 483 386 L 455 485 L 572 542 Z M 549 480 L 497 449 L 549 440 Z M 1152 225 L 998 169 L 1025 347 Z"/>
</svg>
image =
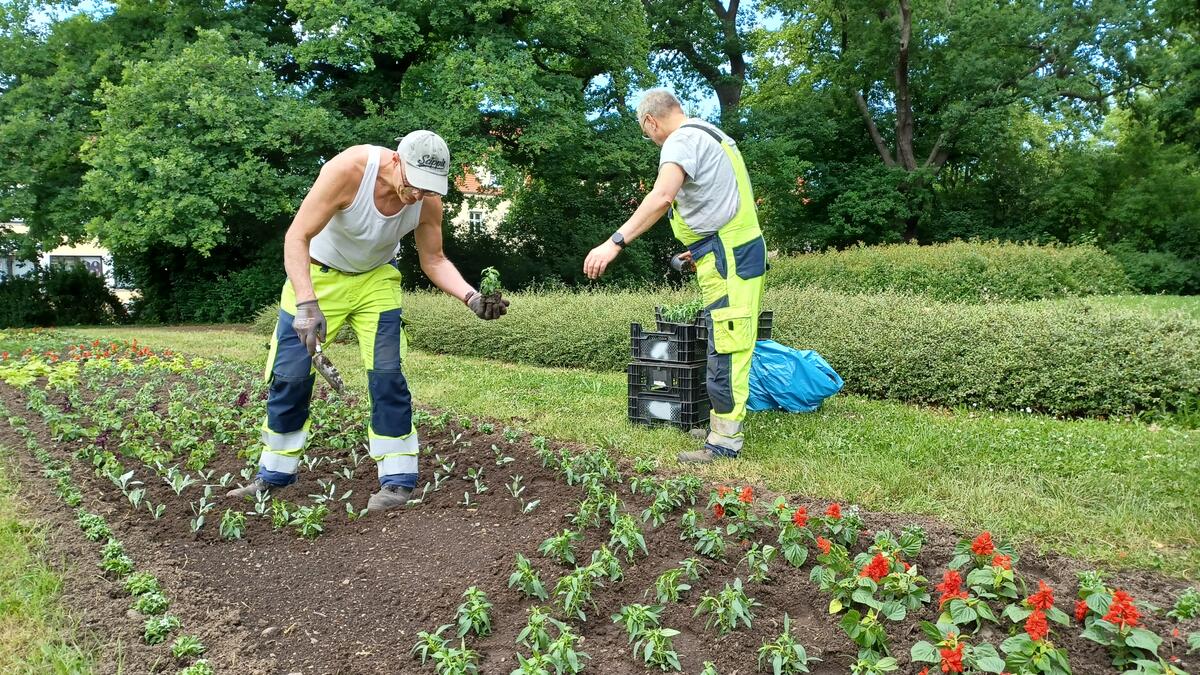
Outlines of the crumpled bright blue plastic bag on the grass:
<svg viewBox="0 0 1200 675">
<path fill-rule="evenodd" d="M 774 340 L 758 340 L 750 359 L 751 411 L 812 412 L 841 390 L 842 380 L 812 350 L 793 350 Z"/>
</svg>

